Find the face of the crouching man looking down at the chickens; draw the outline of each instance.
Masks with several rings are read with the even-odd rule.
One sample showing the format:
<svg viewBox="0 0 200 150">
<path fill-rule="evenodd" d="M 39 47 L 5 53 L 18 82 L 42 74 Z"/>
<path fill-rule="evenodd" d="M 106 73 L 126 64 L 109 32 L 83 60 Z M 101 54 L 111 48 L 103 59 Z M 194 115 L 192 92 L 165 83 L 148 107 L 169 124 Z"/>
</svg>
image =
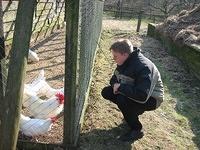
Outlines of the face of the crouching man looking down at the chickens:
<svg viewBox="0 0 200 150">
<path fill-rule="evenodd" d="M 129 54 L 128 53 L 119 53 L 119 52 L 115 52 L 113 50 L 112 51 L 112 55 L 113 55 L 113 59 L 114 61 L 120 66 L 122 65 L 126 59 L 128 58 Z"/>
</svg>

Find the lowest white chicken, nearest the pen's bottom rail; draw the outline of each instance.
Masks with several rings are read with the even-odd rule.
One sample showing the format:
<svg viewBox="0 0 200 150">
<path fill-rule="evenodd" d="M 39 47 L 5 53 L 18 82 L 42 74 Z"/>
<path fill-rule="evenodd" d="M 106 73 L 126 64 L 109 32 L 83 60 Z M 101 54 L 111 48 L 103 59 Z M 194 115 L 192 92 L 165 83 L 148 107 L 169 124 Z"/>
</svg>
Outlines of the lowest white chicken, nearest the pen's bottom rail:
<svg viewBox="0 0 200 150">
<path fill-rule="evenodd" d="M 24 135 L 33 137 L 46 134 L 56 120 L 56 117 L 48 119 L 31 119 L 21 114 L 19 127 Z"/>
</svg>

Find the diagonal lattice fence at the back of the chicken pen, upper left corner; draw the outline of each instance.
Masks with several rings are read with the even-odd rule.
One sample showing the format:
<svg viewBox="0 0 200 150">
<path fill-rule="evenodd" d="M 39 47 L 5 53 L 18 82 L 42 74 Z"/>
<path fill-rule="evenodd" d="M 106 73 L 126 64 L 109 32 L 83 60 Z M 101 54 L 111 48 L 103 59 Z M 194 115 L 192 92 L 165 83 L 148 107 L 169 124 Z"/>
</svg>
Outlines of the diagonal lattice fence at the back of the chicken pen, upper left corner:
<svg viewBox="0 0 200 150">
<path fill-rule="evenodd" d="M 12 44 L 18 1 L 2 1 L 6 53 Z M 31 42 L 39 42 L 64 24 L 64 0 L 37 1 L 34 10 Z"/>
</svg>

